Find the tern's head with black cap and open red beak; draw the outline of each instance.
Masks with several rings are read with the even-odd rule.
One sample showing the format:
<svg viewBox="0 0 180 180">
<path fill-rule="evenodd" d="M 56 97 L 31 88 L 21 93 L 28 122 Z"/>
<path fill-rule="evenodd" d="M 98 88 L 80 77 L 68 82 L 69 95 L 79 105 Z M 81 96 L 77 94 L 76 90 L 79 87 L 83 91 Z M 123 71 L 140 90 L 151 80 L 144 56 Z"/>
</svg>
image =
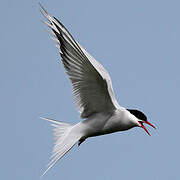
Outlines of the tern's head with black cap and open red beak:
<svg viewBox="0 0 180 180">
<path fill-rule="evenodd" d="M 143 125 L 143 123 L 150 125 L 154 129 L 156 129 L 156 127 L 147 120 L 146 115 L 139 110 L 135 110 L 135 109 L 127 109 L 127 110 L 138 119 L 137 126 L 142 127 L 150 136 L 149 131 L 146 129 L 146 127 Z"/>
</svg>

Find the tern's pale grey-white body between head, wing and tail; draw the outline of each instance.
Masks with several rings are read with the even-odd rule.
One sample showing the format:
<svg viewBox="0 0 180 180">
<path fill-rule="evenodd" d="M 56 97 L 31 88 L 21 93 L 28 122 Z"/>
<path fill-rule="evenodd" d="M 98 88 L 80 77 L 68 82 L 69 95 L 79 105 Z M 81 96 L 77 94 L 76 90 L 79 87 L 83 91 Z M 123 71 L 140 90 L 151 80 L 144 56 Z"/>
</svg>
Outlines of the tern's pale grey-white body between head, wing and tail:
<svg viewBox="0 0 180 180">
<path fill-rule="evenodd" d="M 124 108 L 117 109 L 113 114 L 98 113 L 82 123 L 85 137 L 109 134 L 117 131 L 128 130 L 136 126 L 133 116 Z"/>
</svg>

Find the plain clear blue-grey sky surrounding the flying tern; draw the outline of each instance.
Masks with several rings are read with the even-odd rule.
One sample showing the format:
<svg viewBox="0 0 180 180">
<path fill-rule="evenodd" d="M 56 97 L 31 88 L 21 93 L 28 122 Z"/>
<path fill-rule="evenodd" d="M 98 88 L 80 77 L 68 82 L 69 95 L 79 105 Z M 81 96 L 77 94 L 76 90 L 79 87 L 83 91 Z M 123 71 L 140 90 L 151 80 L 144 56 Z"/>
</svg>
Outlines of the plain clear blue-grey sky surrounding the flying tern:
<svg viewBox="0 0 180 180">
<path fill-rule="evenodd" d="M 39 116 L 80 121 L 39 1 L 0 6 L 0 179 L 37 180 L 53 148 Z M 41 3 L 109 71 L 120 105 L 142 110 L 141 128 L 86 140 L 44 180 L 179 180 L 180 1 L 53 0 Z"/>
</svg>

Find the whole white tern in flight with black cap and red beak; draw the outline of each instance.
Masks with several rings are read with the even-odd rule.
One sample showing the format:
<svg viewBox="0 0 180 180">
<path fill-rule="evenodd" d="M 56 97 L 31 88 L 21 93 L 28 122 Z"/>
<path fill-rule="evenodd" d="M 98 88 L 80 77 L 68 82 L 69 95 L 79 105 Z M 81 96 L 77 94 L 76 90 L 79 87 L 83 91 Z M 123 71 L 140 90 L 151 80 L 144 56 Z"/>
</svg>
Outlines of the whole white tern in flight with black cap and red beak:
<svg viewBox="0 0 180 180">
<path fill-rule="evenodd" d="M 87 138 L 133 127 L 143 128 L 145 124 L 155 128 L 147 116 L 136 109 L 120 106 L 115 98 L 112 81 L 107 70 L 95 60 L 69 33 L 66 27 L 40 4 L 43 21 L 50 29 L 53 40 L 59 48 L 61 61 L 72 84 L 74 102 L 83 119 L 72 125 L 54 119 L 55 145 L 46 174 L 75 144 L 81 145 Z M 43 174 L 43 175 L 44 175 Z"/>
</svg>

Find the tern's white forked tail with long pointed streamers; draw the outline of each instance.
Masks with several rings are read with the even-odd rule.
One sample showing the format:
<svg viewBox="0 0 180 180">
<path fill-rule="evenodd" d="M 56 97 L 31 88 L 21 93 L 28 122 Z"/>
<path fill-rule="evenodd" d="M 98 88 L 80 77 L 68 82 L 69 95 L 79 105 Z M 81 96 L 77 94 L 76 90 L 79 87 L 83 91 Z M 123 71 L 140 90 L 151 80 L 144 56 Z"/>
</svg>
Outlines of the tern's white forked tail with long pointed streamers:
<svg viewBox="0 0 180 180">
<path fill-rule="evenodd" d="M 49 169 L 51 169 L 58 160 L 60 160 L 81 138 L 80 133 L 73 130 L 75 126 L 59 122 L 53 119 L 42 118 L 44 120 L 52 122 L 54 127 L 55 146 L 53 148 L 53 154 L 51 156 L 51 162 L 48 164 L 48 168 L 43 173 L 44 176 Z"/>
</svg>

